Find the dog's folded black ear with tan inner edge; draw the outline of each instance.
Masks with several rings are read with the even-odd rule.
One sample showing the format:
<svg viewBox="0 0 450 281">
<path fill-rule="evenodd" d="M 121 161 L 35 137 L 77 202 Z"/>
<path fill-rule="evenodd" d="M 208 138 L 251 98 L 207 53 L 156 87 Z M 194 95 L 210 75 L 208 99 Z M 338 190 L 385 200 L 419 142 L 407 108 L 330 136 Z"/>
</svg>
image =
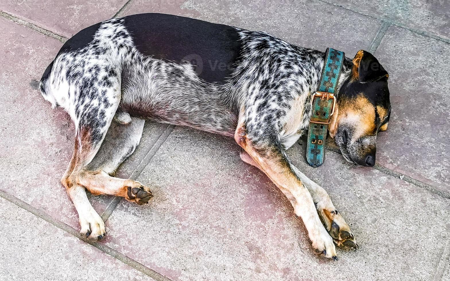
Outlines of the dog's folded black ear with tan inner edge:
<svg viewBox="0 0 450 281">
<path fill-rule="evenodd" d="M 354 80 L 361 83 L 374 82 L 389 77 L 387 71 L 374 55 L 365 50 L 359 50 L 353 58 L 352 75 Z"/>
</svg>

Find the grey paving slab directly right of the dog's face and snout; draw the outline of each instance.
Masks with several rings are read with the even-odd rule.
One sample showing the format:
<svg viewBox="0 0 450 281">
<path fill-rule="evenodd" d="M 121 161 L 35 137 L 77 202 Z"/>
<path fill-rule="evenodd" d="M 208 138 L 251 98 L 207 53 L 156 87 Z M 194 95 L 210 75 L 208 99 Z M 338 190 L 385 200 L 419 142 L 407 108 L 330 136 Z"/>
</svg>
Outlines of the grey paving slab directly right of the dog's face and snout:
<svg viewBox="0 0 450 281">
<path fill-rule="evenodd" d="M 392 117 L 381 165 L 450 192 L 450 45 L 390 27 L 375 52 L 389 72 Z"/>
</svg>

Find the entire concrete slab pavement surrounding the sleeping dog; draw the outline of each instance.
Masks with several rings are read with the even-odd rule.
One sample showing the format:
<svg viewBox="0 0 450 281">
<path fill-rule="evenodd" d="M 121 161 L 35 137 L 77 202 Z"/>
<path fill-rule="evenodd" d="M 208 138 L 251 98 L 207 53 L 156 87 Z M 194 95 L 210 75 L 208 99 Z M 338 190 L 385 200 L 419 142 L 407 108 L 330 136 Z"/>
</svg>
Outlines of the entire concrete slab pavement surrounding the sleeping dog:
<svg viewBox="0 0 450 281">
<path fill-rule="evenodd" d="M 2 280 L 450 280 L 450 11 L 443 0 L 81 0 L 0 3 Z M 78 30 L 133 13 L 172 13 L 263 30 L 297 45 L 366 49 L 390 73 L 392 117 L 377 165 L 333 144 L 320 168 L 302 140 L 289 155 L 323 186 L 361 248 L 319 261 L 281 192 L 240 161 L 233 139 L 147 122 L 121 177 L 152 188 L 133 205 L 92 196 L 108 236 L 83 241 L 59 178 L 73 125 L 37 81 Z"/>
</svg>

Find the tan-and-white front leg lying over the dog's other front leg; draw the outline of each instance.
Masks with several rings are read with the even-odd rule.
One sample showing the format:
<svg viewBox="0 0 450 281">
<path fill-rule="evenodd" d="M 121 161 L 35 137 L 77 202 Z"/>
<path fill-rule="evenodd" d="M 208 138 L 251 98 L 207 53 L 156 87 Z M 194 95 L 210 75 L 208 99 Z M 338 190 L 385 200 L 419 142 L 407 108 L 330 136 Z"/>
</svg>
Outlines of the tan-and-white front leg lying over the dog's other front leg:
<svg viewBox="0 0 450 281">
<path fill-rule="evenodd" d="M 322 225 L 308 189 L 291 168 L 279 143 L 273 139 L 247 132 L 241 125 L 234 135 L 236 142 L 248 153 L 273 183 L 288 197 L 294 212 L 301 217 L 316 253 L 329 259 L 337 259 L 333 239 Z"/>
</svg>

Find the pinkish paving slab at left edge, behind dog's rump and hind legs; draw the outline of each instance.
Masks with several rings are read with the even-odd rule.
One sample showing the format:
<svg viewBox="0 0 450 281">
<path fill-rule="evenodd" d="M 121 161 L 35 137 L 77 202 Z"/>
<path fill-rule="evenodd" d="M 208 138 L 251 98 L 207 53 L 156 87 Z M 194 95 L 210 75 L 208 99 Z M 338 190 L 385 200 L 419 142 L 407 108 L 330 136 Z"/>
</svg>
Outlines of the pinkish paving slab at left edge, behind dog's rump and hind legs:
<svg viewBox="0 0 450 281">
<path fill-rule="evenodd" d="M 37 89 L 61 42 L 0 18 L 0 186 L 78 228 L 78 217 L 60 178 L 73 152 L 74 128 L 61 109 L 52 110 Z M 112 197 L 92 200 L 98 212 Z"/>
</svg>

